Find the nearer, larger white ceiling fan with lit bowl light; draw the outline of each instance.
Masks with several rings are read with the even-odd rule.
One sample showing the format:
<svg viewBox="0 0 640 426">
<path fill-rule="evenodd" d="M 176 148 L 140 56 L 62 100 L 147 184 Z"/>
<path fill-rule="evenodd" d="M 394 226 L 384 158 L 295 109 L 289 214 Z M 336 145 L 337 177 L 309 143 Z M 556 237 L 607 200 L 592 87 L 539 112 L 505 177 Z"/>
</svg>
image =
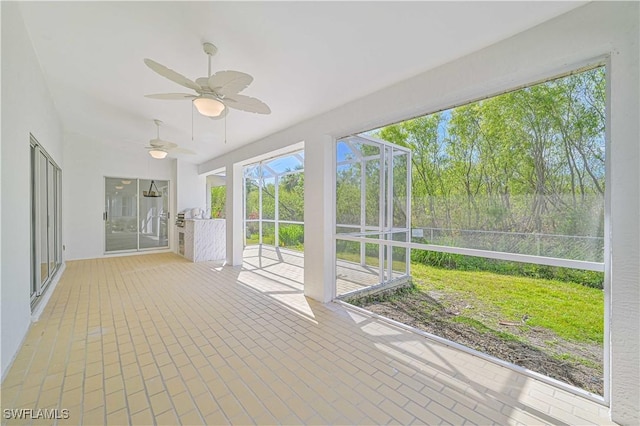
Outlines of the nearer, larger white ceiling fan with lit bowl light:
<svg viewBox="0 0 640 426">
<path fill-rule="evenodd" d="M 214 119 L 225 117 L 228 114 L 227 107 L 257 114 L 271 113 L 269 106 L 261 100 L 239 94 L 251 84 L 253 77 L 240 71 L 218 71 L 212 75 L 211 57 L 216 54 L 218 48 L 207 42 L 203 44 L 203 49 L 209 57 L 209 71 L 207 77 L 197 78 L 196 81 L 192 81 L 151 59 L 145 58 L 144 60 L 144 63 L 156 73 L 174 83 L 192 89 L 196 94 L 160 93 L 145 96 L 161 100 L 190 99 L 200 114 Z"/>
</svg>

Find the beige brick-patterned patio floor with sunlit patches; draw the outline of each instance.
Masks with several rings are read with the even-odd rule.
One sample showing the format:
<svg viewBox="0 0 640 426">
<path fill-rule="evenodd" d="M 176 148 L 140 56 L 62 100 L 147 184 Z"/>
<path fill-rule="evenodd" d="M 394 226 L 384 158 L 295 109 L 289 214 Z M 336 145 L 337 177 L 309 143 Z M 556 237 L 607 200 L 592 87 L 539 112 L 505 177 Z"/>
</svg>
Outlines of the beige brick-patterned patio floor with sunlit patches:
<svg viewBox="0 0 640 426">
<path fill-rule="evenodd" d="M 302 264 L 283 260 L 252 248 L 243 267 L 67 262 L 2 408 L 67 409 L 57 424 L 84 425 L 610 424 L 599 404 L 306 299 Z"/>
</svg>

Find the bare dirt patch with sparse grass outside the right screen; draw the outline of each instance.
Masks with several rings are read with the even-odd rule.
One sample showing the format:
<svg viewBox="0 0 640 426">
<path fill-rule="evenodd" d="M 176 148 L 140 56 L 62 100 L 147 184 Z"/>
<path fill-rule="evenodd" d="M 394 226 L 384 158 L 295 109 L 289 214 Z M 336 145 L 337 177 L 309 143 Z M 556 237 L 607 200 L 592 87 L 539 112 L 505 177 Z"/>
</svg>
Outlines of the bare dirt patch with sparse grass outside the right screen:
<svg viewBox="0 0 640 426">
<path fill-rule="evenodd" d="M 520 322 L 500 320 L 487 309 L 436 292 L 400 291 L 347 300 L 371 312 L 496 358 L 603 394 L 602 346 L 576 344 L 555 333 Z M 461 314 L 464 312 L 464 314 Z"/>
</svg>

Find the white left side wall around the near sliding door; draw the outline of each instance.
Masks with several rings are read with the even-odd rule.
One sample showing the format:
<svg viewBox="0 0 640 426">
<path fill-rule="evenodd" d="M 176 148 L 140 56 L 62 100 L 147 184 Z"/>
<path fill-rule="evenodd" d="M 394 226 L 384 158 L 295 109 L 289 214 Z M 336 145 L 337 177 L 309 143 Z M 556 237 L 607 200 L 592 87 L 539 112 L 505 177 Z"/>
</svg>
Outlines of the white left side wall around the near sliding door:
<svg viewBox="0 0 640 426">
<path fill-rule="evenodd" d="M 32 133 L 62 167 L 62 130 L 17 2 L 2 7 L 1 317 L 2 377 L 31 322 L 30 148 Z"/>
</svg>

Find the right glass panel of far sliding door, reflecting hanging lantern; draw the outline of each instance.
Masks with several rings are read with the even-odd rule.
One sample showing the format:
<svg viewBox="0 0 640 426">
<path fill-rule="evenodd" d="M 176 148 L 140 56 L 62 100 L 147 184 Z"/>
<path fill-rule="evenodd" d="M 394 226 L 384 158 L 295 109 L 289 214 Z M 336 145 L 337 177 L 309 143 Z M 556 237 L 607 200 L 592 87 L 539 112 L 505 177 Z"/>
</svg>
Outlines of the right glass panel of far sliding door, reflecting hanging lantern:
<svg viewBox="0 0 640 426">
<path fill-rule="evenodd" d="M 169 181 L 140 179 L 138 199 L 138 248 L 168 247 Z"/>
</svg>

